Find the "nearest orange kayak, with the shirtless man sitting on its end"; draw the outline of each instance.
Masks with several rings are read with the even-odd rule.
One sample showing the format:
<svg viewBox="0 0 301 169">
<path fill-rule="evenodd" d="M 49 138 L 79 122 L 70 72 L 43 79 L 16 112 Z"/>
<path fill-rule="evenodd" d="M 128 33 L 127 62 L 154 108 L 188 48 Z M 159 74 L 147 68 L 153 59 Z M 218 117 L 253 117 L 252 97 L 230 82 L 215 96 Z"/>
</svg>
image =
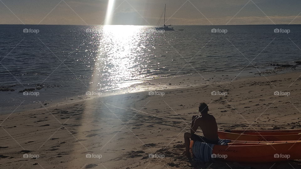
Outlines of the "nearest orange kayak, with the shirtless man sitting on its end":
<svg viewBox="0 0 301 169">
<path fill-rule="evenodd" d="M 280 141 L 281 142 L 281 141 Z M 289 141 L 287 143 L 272 142 L 248 142 L 232 141 L 228 145 L 214 145 L 211 159 L 232 162 L 277 162 L 301 159 L 301 141 Z M 190 148 L 193 141 L 190 142 Z"/>
</svg>

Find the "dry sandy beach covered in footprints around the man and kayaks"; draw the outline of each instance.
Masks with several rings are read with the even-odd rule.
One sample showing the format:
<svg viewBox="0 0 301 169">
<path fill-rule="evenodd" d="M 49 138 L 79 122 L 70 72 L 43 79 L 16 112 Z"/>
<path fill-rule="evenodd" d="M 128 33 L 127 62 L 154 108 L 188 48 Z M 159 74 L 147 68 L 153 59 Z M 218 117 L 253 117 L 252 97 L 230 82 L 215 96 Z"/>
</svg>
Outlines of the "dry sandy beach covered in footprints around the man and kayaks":
<svg viewBox="0 0 301 169">
<path fill-rule="evenodd" d="M 274 74 L 4 114 L 0 168 L 301 168 L 300 161 L 198 163 L 181 156 L 200 102 L 219 130 L 301 129 L 300 80 L 298 72 Z"/>
</svg>

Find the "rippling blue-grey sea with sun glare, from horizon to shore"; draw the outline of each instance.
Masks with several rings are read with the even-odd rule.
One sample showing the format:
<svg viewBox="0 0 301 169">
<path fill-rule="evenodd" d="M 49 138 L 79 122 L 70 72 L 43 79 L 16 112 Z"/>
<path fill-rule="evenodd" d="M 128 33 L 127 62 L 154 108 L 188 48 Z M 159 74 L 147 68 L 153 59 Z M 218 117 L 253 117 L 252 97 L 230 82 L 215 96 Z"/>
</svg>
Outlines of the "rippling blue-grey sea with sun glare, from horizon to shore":
<svg viewBox="0 0 301 169">
<path fill-rule="evenodd" d="M 0 88 L 14 90 L 0 91 L 0 106 L 301 60 L 301 25 L 174 28 L 161 32 L 133 25 L 0 25 Z M 24 94 L 24 89 L 34 90 Z"/>
</svg>

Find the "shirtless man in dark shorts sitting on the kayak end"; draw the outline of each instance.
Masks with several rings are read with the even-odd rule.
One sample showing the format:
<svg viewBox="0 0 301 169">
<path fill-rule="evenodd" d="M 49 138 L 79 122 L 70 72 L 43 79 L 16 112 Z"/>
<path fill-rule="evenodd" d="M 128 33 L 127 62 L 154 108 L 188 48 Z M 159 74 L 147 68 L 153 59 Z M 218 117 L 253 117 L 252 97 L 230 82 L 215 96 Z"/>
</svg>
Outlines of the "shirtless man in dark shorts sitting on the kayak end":
<svg viewBox="0 0 301 169">
<path fill-rule="evenodd" d="M 189 145 L 190 139 L 193 141 L 201 141 L 209 144 L 218 144 L 219 136 L 217 134 L 218 128 L 213 115 L 208 114 L 208 105 L 206 103 L 201 103 L 198 107 L 198 111 L 201 113 L 201 117 L 198 115 L 192 116 L 190 133 L 184 133 L 184 141 L 185 141 L 185 155 L 190 157 Z M 201 128 L 204 136 L 198 136 L 195 131 Z"/>
</svg>

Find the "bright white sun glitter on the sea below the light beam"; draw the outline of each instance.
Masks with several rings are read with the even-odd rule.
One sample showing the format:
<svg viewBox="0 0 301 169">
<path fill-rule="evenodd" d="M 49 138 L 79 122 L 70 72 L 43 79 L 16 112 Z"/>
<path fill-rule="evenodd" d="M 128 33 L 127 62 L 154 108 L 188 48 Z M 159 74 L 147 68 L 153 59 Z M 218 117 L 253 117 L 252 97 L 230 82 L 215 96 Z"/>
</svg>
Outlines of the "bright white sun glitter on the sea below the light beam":
<svg viewBox="0 0 301 169">
<path fill-rule="evenodd" d="M 99 53 L 95 58 L 95 71 L 92 75 L 91 85 L 95 90 L 99 91 L 105 86 L 121 89 L 141 82 L 135 79 L 143 78 L 140 74 L 144 50 L 141 43 L 143 28 L 144 26 L 134 25 L 102 27 Z"/>
</svg>

